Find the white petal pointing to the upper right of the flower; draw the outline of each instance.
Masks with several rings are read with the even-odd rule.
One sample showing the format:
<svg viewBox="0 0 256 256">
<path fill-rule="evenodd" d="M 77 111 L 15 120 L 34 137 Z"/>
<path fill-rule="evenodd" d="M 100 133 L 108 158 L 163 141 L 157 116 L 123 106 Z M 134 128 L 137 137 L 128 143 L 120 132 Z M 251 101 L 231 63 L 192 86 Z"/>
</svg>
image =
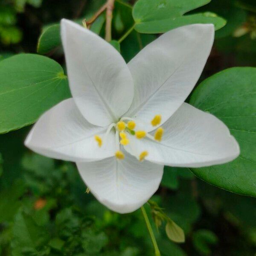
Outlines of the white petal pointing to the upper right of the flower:
<svg viewBox="0 0 256 256">
<path fill-rule="evenodd" d="M 212 24 L 193 24 L 173 29 L 141 50 L 128 63 L 134 99 L 125 116 L 145 122 L 147 131 L 153 130 L 150 121 L 155 115 L 165 122 L 198 81 L 213 39 Z"/>
</svg>

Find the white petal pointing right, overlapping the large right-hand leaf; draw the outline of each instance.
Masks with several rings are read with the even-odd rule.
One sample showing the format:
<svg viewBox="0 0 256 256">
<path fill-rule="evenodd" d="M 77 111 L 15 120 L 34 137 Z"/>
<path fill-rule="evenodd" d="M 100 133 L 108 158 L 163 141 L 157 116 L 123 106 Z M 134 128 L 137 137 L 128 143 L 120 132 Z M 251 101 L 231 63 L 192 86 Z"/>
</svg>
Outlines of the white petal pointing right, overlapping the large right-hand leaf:
<svg viewBox="0 0 256 256">
<path fill-rule="evenodd" d="M 223 122 L 187 103 L 163 124 L 160 143 L 129 136 L 131 154 L 147 150 L 146 159 L 154 163 L 179 167 L 203 167 L 227 163 L 239 155 L 239 145 Z M 154 135 L 152 131 L 150 133 Z M 137 150 L 137 152 L 135 152 Z"/>
</svg>

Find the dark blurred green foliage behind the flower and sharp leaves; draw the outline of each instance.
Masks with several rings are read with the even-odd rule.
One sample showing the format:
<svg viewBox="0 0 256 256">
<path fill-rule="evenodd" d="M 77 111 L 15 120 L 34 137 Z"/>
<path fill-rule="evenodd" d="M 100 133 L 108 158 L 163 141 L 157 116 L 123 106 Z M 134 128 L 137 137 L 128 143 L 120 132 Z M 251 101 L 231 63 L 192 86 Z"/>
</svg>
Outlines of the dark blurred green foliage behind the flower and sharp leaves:
<svg viewBox="0 0 256 256">
<path fill-rule="evenodd" d="M 62 17 L 75 20 L 90 17 L 103 3 L 103 0 L 2 0 L 0 61 L 20 52 L 44 51 L 37 44 L 45 26 L 58 23 Z M 115 7 L 113 39 L 117 40 L 133 20 L 119 1 Z M 256 67 L 254 0 L 212 0 L 196 12 L 215 12 L 227 20 L 227 25 L 216 32 L 201 81 L 228 67 Z M 104 35 L 103 23 L 104 20 L 99 25 L 100 35 Z M 125 60 L 129 61 L 156 37 L 156 34 L 131 32 L 120 46 Z M 61 47 L 47 55 L 64 67 Z M 140 210 L 119 215 L 103 207 L 85 193 L 86 186 L 73 163 L 41 157 L 24 147 L 30 128 L 0 135 L 0 255 L 152 255 Z M 256 255 L 254 198 L 209 185 L 188 169 L 166 168 L 162 185 L 152 199 L 186 234 L 185 243 L 175 244 L 167 239 L 164 226 L 159 233 L 155 229 L 163 255 Z M 150 215 L 149 207 L 145 207 Z"/>
</svg>

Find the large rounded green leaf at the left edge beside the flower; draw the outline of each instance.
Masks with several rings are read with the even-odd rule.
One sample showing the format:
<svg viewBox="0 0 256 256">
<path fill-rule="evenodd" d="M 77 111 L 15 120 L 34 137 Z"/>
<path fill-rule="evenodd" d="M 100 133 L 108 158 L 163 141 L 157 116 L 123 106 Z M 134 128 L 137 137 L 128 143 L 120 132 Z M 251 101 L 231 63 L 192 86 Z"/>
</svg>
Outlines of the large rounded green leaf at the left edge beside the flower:
<svg viewBox="0 0 256 256">
<path fill-rule="evenodd" d="M 0 134 L 32 124 L 70 96 L 61 65 L 50 58 L 20 54 L 0 62 Z"/>
</svg>

